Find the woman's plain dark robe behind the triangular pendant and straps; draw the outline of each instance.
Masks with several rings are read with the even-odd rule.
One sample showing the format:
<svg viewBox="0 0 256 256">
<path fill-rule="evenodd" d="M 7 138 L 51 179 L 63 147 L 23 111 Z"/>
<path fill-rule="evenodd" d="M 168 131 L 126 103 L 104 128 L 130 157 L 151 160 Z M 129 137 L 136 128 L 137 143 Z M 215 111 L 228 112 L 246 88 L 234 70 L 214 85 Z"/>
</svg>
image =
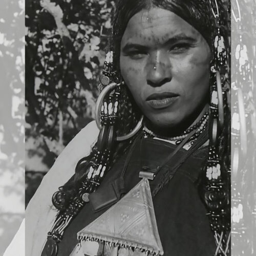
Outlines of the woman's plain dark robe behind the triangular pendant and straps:
<svg viewBox="0 0 256 256">
<path fill-rule="evenodd" d="M 141 145 L 141 146 L 140 146 Z M 126 191 L 139 181 L 142 166 L 155 168 L 175 150 L 176 146 L 153 138 L 137 142 L 124 175 Z M 215 252 L 214 235 L 209 227 L 207 210 L 200 200 L 196 181 L 207 158 L 208 147 L 201 146 L 177 169 L 174 177 L 163 186 L 153 198 L 158 232 L 164 255 L 170 256 L 212 256 Z M 163 173 L 173 166 L 176 159 L 187 154 L 181 148 L 171 163 L 166 164 L 150 181 L 151 191 L 160 183 Z M 120 177 L 127 157 L 124 154 L 105 175 L 100 190 L 108 193 L 109 184 Z M 177 160 L 178 161 L 178 160 Z M 104 189 L 105 188 L 105 189 Z M 110 205 L 112 206 L 112 205 Z M 109 206 L 109 207 L 110 207 Z M 60 256 L 69 256 L 77 244 L 77 232 L 99 217 L 109 207 L 94 212 L 89 202 L 66 229 L 59 244 Z"/>
</svg>

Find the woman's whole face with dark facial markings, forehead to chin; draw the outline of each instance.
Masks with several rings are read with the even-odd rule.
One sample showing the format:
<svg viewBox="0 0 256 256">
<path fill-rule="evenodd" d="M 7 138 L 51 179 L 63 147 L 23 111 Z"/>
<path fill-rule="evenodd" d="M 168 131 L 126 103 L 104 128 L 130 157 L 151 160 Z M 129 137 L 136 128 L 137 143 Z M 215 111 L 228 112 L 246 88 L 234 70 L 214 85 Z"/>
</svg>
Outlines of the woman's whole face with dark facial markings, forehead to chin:
<svg viewBox="0 0 256 256">
<path fill-rule="evenodd" d="M 127 24 L 120 69 L 143 114 L 158 127 L 172 127 L 200 113 L 208 100 L 210 48 L 175 13 L 143 10 Z"/>
</svg>

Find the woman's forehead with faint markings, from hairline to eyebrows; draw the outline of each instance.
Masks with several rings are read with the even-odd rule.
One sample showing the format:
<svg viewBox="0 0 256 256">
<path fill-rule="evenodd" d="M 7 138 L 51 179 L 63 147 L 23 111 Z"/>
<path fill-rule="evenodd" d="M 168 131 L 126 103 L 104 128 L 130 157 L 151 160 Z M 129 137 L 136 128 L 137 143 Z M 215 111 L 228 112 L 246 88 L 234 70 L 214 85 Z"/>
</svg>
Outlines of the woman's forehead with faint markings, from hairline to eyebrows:
<svg viewBox="0 0 256 256">
<path fill-rule="evenodd" d="M 151 43 L 161 44 L 180 34 L 187 37 L 200 36 L 194 27 L 175 13 L 152 8 L 140 11 L 129 20 L 122 41 L 135 43 L 150 40 Z"/>
</svg>

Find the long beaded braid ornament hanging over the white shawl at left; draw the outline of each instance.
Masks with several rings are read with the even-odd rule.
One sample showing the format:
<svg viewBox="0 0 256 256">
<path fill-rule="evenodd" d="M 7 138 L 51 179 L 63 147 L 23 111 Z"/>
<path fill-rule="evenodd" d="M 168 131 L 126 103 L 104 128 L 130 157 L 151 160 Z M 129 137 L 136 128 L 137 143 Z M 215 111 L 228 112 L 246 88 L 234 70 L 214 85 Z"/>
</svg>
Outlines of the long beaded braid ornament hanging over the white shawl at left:
<svg viewBox="0 0 256 256">
<path fill-rule="evenodd" d="M 105 61 L 104 77 L 101 79 L 103 86 L 108 84 L 107 81 L 110 82 L 115 78 L 115 73 L 112 72 L 113 65 L 109 63 L 113 60 L 111 55 L 113 56 L 113 53 L 107 55 Z M 107 75 L 109 75 L 109 80 L 105 78 Z M 84 173 L 86 174 L 86 177 L 81 181 L 77 195 L 70 200 L 68 207 L 62 206 L 67 200 L 65 193 L 62 191 L 62 187 L 53 195 L 53 205 L 57 209 L 60 209 L 60 211 L 57 214 L 53 227 L 48 232 L 47 242 L 41 253 L 42 256 L 57 255 L 58 243 L 62 240 L 63 233 L 81 208 L 89 202 L 89 195 L 97 189 L 104 177 L 105 171 L 109 168 L 111 160 L 110 152 L 116 140 L 114 124 L 117 119 L 119 96 L 120 84 L 117 84 L 115 92 L 104 98 L 101 109 L 102 128 L 97 144 L 92 151 L 92 159 L 89 161 L 89 164 L 85 164 L 87 159 L 81 159 L 76 166 L 76 169 L 84 168 Z"/>
</svg>

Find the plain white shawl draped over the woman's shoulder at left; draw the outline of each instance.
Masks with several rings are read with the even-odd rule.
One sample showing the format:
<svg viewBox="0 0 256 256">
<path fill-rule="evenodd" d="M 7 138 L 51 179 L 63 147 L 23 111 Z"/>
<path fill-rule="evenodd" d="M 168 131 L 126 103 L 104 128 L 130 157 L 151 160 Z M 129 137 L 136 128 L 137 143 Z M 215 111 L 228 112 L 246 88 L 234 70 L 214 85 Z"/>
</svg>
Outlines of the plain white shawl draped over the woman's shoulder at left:
<svg viewBox="0 0 256 256">
<path fill-rule="evenodd" d="M 52 205 L 52 195 L 58 190 L 58 187 L 65 184 L 74 175 L 79 159 L 90 154 L 98 133 L 96 122 L 92 121 L 61 152 L 28 204 L 25 215 L 26 225 L 23 221 L 4 256 L 23 256 L 25 255 L 24 248 L 26 248 L 26 256 L 41 255 L 47 233 L 57 214 Z"/>
</svg>

